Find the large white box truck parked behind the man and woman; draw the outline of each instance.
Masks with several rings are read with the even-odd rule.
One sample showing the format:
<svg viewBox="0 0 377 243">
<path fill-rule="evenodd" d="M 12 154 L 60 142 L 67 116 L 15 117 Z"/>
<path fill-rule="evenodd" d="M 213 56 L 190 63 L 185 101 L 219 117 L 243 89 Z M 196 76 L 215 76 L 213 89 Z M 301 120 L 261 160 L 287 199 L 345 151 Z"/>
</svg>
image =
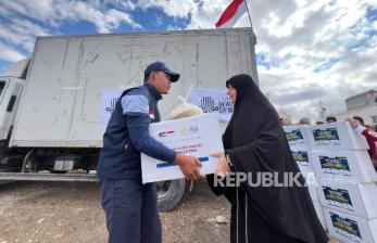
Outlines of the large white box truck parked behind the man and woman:
<svg viewBox="0 0 377 243">
<path fill-rule="evenodd" d="M 257 81 L 254 44 L 252 28 L 37 37 L 29 65 L 0 77 L 0 179 L 96 180 L 106 93 L 142 85 L 163 61 L 181 74 L 159 103 L 164 120 L 191 86 L 225 88 L 240 73 Z M 166 200 L 172 184 L 161 186 Z"/>
</svg>

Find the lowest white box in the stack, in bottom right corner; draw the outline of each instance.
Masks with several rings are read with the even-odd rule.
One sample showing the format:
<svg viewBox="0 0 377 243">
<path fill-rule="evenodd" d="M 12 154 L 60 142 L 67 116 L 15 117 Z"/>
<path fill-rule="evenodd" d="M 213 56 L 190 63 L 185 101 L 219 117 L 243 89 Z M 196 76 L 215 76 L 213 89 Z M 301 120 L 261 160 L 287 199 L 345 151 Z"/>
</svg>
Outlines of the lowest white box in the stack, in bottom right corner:
<svg viewBox="0 0 377 243">
<path fill-rule="evenodd" d="M 328 232 L 343 242 L 377 242 L 377 219 L 366 220 L 323 207 Z"/>
</svg>

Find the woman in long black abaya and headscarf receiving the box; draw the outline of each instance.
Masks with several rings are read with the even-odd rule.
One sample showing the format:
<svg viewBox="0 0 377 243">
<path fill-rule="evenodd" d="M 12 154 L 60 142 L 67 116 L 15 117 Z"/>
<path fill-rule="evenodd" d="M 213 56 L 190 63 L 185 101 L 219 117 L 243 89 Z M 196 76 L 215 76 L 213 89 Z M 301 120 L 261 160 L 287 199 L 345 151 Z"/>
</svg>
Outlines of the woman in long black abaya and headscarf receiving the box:
<svg viewBox="0 0 377 243">
<path fill-rule="evenodd" d="M 275 172 L 280 179 L 285 172 L 300 172 L 279 117 L 253 79 L 236 75 L 226 87 L 235 111 L 223 136 L 225 154 L 213 154 L 219 158 L 217 175 L 229 169 L 225 157 L 231 171 L 252 175 L 254 183 L 260 172 Z M 214 187 L 214 175 L 208 176 L 213 192 L 225 194 L 231 203 L 230 242 L 328 242 L 307 188 L 252 187 L 248 182 L 222 188 Z M 304 184 L 302 176 L 298 180 Z"/>
</svg>

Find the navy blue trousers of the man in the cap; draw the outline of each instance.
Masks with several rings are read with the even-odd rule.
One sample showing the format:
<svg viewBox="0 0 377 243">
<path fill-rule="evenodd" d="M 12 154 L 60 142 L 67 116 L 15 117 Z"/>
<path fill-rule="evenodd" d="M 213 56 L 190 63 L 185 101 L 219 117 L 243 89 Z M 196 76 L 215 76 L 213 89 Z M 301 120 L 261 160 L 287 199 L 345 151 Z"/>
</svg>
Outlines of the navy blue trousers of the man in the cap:
<svg viewBox="0 0 377 243">
<path fill-rule="evenodd" d="M 100 186 L 109 243 L 161 243 L 154 183 L 101 179 Z"/>
</svg>

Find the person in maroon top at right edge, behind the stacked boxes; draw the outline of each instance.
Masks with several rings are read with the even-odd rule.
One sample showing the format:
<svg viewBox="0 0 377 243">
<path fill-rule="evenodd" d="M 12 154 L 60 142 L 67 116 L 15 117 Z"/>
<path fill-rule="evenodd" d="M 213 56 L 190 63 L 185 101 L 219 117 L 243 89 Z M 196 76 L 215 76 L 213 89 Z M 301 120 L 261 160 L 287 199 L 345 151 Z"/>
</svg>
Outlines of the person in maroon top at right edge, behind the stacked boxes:
<svg viewBox="0 0 377 243">
<path fill-rule="evenodd" d="M 377 169 L 377 132 L 370 128 L 365 127 L 364 119 L 360 116 L 353 116 L 352 118 L 347 118 L 347 120 L 351 124 L 352 128 L 359 135 L 363 135 L 368 142 L 369 145 L 369 156 L 372 158 L 373 165 Z"/>
</svg>

